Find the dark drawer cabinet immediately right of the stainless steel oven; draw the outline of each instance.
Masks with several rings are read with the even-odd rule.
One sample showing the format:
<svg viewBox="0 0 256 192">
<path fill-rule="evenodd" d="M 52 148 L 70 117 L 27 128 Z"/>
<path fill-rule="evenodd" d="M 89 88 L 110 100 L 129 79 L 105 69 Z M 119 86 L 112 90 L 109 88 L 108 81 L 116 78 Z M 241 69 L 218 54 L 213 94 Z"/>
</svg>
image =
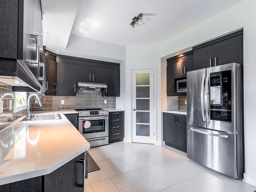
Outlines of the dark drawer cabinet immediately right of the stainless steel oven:
<svg viewBox="0 0 256 192">
<path fill-rule="evenodd" d="M 109 112 L 109 143 L 122 141 L 124 138 L 124 112 Z"/>
</svg>

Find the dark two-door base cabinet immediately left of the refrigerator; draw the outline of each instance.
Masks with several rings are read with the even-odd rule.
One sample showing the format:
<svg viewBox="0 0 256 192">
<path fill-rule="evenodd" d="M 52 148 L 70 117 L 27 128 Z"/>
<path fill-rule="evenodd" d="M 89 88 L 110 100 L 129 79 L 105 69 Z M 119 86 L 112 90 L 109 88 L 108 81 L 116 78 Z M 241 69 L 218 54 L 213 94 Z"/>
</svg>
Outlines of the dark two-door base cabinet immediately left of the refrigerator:
<svg viewBox="0 0 256 192">
<path fill-rule="evenodd" d="M 186 115 L 163 113 L 163 140 L 177 150 L 187 152 Z"/>
</svg>

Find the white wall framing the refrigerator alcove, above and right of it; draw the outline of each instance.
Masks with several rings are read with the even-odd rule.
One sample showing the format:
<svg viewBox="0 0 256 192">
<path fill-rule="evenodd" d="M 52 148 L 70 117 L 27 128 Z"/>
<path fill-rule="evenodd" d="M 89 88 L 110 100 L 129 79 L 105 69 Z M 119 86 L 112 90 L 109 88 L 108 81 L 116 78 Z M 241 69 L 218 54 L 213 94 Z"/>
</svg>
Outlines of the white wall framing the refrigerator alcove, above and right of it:
<svg viewBox="0 0 256 192">
<path fill-rule="evenodd" d="M 161 57 L 244 28 L 245 175 L 256 185 L 256 1 L 244 0 L 161 43 Z"/>
</svg>

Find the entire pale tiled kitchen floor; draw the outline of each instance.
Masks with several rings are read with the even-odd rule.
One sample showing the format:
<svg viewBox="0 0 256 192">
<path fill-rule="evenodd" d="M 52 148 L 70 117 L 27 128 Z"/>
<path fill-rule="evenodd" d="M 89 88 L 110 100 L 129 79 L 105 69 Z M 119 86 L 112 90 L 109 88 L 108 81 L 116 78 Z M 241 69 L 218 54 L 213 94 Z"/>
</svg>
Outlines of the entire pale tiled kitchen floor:
<svg viewBox="0 0 256 192">
<path fill-rule="evenodd" d="M 256 187 L 201 166 L 167 146 L 112 143 L 89 150 L 100 170 L 85 191 L 249 192 Z"/>
</svg>

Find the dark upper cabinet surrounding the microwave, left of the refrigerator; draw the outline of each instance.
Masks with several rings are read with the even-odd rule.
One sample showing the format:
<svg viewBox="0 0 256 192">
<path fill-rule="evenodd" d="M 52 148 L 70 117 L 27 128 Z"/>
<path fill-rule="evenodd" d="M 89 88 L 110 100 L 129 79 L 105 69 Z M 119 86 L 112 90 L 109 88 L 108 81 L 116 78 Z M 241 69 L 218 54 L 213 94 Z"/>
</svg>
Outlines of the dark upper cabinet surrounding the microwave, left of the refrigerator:
<svg viewBox="0 0 256 192">
<path fill-rule="evenodd" d="M 186 73 L 193 70 L 193 51 L 167 59 L 166 81 L 167 96 L 186 95 L 176 92 L 176 81 L 186 79 Z"/>
</svg>

